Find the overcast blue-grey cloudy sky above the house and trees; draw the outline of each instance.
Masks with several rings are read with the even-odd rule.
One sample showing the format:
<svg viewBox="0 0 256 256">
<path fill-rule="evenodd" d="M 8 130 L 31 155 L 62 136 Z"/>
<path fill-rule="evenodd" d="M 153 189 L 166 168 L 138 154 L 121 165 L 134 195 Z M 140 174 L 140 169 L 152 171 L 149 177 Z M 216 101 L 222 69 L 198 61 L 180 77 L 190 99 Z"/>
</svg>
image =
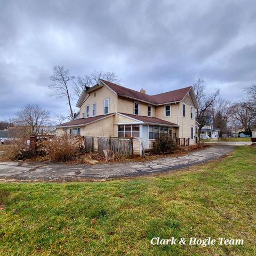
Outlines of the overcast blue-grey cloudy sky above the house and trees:
<svg viewBox="0 0 256 256">
<path fill-rule="evenodd" d="M 205 80 L 237 100 L 256 82 L 255 1 L 0 0 L 0 120 L 50 98 L 55 65 L 72 75 L 114 71 L 157 94 Z M 75 105 L 75 102 L 74 102 Z"/>
</svg>

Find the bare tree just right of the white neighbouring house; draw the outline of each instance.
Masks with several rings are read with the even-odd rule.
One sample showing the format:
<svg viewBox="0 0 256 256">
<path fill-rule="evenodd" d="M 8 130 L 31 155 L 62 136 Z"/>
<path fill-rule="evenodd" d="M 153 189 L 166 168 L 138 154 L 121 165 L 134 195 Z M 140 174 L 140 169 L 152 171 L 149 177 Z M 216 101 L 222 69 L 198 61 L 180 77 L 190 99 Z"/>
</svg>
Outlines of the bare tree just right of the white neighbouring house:
<svg viewBox="0 0 256 256">
<path fill-rule="evenodd" d="M 231 102 L 229 100 L 218 98 L 211 107 L 213 125 L 219 130 L 219 136 L 228 132 L 228 121 L 230 117 Z"/>
</svg>

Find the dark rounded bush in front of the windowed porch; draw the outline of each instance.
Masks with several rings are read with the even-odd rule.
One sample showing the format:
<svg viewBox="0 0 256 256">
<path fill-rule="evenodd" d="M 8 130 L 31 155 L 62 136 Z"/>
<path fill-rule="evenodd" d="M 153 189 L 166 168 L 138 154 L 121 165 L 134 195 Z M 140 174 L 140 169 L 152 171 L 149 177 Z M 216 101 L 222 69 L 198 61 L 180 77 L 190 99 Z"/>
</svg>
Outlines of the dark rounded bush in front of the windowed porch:
<svg viewBox="0 0 256 256">
<path fill-rule="evenodd" d="M 173 153 L 178 146 L 168 134 L 156 138 L 154 142 L 154 153 Z"/>
</svg>

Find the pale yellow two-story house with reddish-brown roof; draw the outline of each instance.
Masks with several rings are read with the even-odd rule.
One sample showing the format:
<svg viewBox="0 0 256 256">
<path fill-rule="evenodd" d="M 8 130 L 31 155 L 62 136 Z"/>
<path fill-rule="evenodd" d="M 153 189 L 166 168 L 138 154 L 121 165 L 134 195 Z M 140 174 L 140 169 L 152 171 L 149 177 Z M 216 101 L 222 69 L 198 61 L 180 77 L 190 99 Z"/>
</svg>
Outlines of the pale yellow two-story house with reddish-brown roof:
<svg viewBox="0 0 256 256">
<path fill-rule="evenodd" d="M 138 92 L 99 79 L 82 93 L 76 107 L 77 119 L 57 125 L 57 135 L 134 137 L 141 139 L 145 149 L 161 133 L 195 143 L 198 102 L 191 86 L 148 95 L 143 89 Z"/>
</svg>

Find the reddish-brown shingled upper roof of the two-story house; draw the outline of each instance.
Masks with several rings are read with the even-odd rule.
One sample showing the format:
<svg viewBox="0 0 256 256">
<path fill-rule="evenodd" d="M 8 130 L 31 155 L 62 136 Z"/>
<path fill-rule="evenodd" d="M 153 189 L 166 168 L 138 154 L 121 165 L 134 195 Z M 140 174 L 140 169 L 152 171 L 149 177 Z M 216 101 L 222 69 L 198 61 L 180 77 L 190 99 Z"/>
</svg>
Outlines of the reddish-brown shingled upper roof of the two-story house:
<svg viewBox="0 0 256 256">
<path fill-rule="evenodd" d="M 153 105 L 159 105 L 164 104 L 168 102 L 175 102 L 175 101 L 181 101 L 188 91 L 191 89 L 191 86 L 185 87 L 182 89 L 165 92 L 161 94 L 156 95 L 148 95 L 145 93 L 137 92 L 131 89 L 128 89 L 126 87 L 123 87 L 121 85 L 113 84 L 111 82 L 108 82 L 106 80 L 101 79 L 103 83 L 105 83 L 107 86 L 110 87 L 113 91 L 115 91 L 118 95 L 121 95 L 123 97 L 133 98 L 137 100 L 142 100 L 149 102 Z"/>
</svg>

